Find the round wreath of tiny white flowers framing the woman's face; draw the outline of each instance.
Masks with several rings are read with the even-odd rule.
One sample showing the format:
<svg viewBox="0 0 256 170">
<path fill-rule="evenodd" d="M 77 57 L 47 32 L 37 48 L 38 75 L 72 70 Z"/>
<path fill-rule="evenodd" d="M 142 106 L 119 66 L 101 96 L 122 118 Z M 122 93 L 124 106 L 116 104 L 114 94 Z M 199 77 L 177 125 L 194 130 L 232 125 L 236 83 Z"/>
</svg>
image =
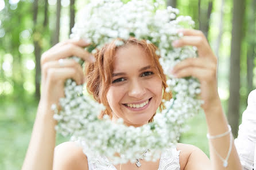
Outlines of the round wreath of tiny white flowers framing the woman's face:
<svg viewBox="0 0 256 170">
<path fill-rule="evenodd" d="M 157 160 L 161 150 L 170 147 L 183 132 L 184 120 L 198 113 L 201 101 L 197 98 L 200 84 L 195 78 L 173 78 L 170 70 L 177 62 L 188 57 L 196 57 L 192 47 L 173 48 L 172 42 L 183 36 L 177 30 L 184 26 L 193 26 L 190 17 L 180 16 L 179 10 L 168 7 L 161 9 L 163 1 L 131 0 L 94 0 L 80 11 L 73 38 L 86 38 L 91 42 L 92 53 L 96 48 L 120 38 L 117 45 L 129 37 L 146 39 L 158 47 L 160 64 L 168 77 L 167 92 L 172 91 L 173 98 L 165 101 L 166 108 L 157 113 L 154 122 L 139 128 L 125 126 L 122 120 L 117 124 L 108 116 L 97 118 L 104 106 L 92 98 L 83 95 L 82 86 L 68 80 L 65 85 L 65 98 L 61 98 L 61 110 L 55 108 L 55 118 L 59 121 L 56 130 L 63 135 L 72 135 L 78 141 L 86 155 L 104 155 L 114 164 L 134 162 L 146 149 L 150 152 L 146 160 Z"/>
</svg>

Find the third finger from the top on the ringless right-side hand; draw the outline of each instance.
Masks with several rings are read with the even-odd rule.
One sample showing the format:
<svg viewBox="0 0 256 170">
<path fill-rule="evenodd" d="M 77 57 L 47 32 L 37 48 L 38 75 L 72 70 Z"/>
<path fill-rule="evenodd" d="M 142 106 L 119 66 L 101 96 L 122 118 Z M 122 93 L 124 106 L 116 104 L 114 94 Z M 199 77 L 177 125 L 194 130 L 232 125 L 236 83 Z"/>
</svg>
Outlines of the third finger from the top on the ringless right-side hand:
<svg viewBox="0 0 256 170">
<path fill-rule="evenodd" d="M 172 73 L 175 74 L 176 72 L 179 72 L 179 70 L 187 67 L 216 70 L 216 63 L 208 60 L 208 58 L 187 58 L 176 64 L 172 70 Z"/>
</svg>

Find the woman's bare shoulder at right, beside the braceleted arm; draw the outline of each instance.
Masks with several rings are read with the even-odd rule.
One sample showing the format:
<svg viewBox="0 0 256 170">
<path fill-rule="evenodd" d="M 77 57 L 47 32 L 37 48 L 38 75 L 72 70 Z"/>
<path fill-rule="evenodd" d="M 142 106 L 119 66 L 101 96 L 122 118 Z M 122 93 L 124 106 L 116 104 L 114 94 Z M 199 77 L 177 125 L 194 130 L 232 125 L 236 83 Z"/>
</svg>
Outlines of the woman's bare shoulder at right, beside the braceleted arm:
<svg viewBox="0 0 256 170">
<path fill-rule="evenodd" d="M 177 144 L 180 151 L 180 170 L 205 169 L 210 166 L 210 160 L 201 149 L 189 144 Z"/>
</svg>

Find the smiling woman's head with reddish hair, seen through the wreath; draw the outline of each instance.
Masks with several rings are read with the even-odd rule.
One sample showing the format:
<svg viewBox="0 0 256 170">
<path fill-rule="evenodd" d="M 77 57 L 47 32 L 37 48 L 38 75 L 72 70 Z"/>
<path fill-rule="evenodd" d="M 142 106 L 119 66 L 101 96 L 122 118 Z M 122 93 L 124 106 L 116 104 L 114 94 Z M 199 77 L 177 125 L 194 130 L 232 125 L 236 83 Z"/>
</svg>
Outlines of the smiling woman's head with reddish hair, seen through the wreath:
<svg viewBox="0 0 256 170">
<path fill-rule="evenodd" d="M 172 93 L 165 92 L 166 76 L 158 61 L 160 56 L 155 51 L 156 46 L 153 44 L 135 38 L 130 38 L 121 47 L 116 46 L 113 41 L 95 54 L 99 64 L 86 64 L 87 90 L 96 101 L 106 106 L 100 118 L 107 114 L 111 118 L 114 116 L 116 120 L 122 117 L 118 113 L 123 112 L 127 116 L 124 118 L 126 124 L 133 122 L 133 125 L 138 126 L 136 124 L 141 125 L 141 121 L 143 124 L 152 122 L 159 105 L 163 109 L 162 96 L 163 99 L 170 100 Z M 143 108 L 137 108 L 136 105 L 147 101 L 150 108 L 148 103 Z M 129 118 L 130 114 L 126 114 L 135 110 L 145 112 L 146 108 L 153 113 L 146 114 L 145 118 L 142 118 L 145 115 L 138 116 L 135 118 L 137 121 L 130 120 L 132 116 Z"/>
</svg>

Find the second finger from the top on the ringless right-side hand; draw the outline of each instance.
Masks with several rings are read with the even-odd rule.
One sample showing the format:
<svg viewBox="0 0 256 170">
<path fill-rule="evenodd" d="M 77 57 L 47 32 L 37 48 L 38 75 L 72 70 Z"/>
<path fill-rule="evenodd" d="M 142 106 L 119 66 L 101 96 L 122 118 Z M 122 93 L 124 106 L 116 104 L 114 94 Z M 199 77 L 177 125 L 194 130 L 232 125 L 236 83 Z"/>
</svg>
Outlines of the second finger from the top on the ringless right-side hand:
<svg viewBox="0 0 256 170">
<path fill-rule="evenodd" d="M 207 42 L 207 39 L 201 36 L 184 36 L 174 41 L 172 45 L 175 48 L 179 48 L 182 46 L 196 46 L 199 57 L 210 56 L 207 54 L 211 52 L 211 48 Z"/>
</svg>

